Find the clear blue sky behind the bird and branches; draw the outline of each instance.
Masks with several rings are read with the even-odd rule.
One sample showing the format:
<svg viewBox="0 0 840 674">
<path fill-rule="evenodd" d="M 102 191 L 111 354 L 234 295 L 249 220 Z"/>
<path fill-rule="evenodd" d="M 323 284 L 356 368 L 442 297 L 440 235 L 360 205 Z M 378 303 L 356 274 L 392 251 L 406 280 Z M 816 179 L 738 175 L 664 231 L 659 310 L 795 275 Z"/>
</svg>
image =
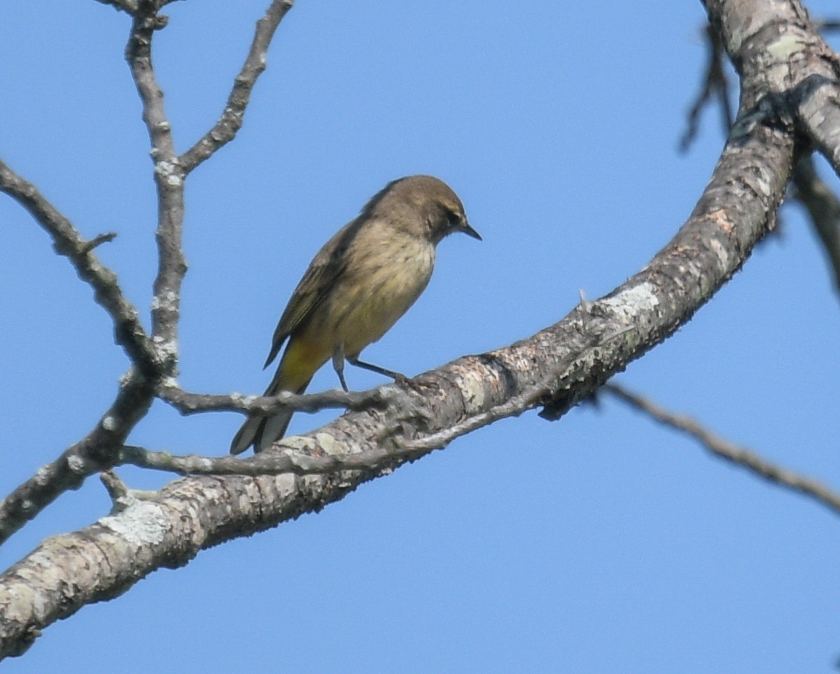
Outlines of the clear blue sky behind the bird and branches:
<svg viewBox="0 0 840 674">
<path fill-rule="evenodd" d="M 142 311 L 154 185 L 123 61 L 93 0 L 10 0 L 0 157 L 88 237 Z M 266 0 L 173 3 L 155 37 L 176 146 L 215 122 Z M 827 12 L 832 3 L 810 3 Z M 312 255 L 387 181 L 440 176 L 484 237 L 368 360 L 407 374 L 507 345 L 609 292 L 687 218 L 721 149 L 677 150 L 704 63 L 701 3 L 298 0 L 245 125 L 186 188 L 181 384 L 261 392 Z M 835 178 L 830 178 L 836 186 Z M 840 312 L 798 208 L 690 324 L 619 377 L 840 489 Z M 0 197 L 0 492 L 87 433 L 126 367 L 106 315 Z M 349 384 L 381 382 L 351 370 Z M 332 371 L 312 390 L 335 387 Z M 298 415 L 291 431 L 331 418 Z M 240 423 L 155 404 L 131 441 L 221 455 Z M 132 487 L 165 477 L 120 471 Z M 107 512 L 96 479 L 0 549 Z M 45 631 L 5 671 L 832 671 L 840 522 L 604 398 L 527 413 L 318 515 L 207 550 Z"/>
</svg>

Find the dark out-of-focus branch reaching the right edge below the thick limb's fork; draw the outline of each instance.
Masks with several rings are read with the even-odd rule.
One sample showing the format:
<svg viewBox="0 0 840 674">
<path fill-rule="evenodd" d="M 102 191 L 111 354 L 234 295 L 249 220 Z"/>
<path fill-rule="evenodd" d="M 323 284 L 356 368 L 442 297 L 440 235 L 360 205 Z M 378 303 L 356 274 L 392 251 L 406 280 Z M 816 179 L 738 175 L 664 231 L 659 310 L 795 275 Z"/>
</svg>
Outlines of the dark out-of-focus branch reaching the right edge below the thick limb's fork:
<svg viewBox="0 0 840 674">
<path fill-rule="evenodd" d="M 834 276 L 834 287 L 840 292 L 840 199 L 816 174 L 811 155 L 802 157 L 793 174 L 795 197 L 811 216 L 816 234 L 826 251 Z"/>
</svg>

